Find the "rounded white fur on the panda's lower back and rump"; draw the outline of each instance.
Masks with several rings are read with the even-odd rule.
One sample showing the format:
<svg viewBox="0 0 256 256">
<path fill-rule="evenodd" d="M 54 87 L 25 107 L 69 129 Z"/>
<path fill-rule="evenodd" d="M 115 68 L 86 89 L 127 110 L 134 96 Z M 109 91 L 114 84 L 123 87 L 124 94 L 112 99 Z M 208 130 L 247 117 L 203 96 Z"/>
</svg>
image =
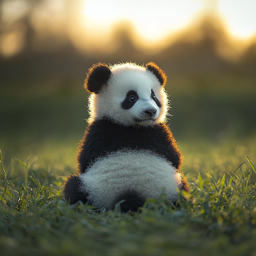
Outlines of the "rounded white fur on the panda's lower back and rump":
<svg viewBox="0 0 256 256">
<path fill-rule="evenodd" d="M 162 157 L 150 150 L 123 149 L 97 159 L 80 176 L 81 191 L 97 207 L 109 208 L 118 195 L 127 190 L 137 191 L 144 198 L 159 198 L 164 192 L 168 199 L 177 199 L 180 174 Z"/>
</svg>

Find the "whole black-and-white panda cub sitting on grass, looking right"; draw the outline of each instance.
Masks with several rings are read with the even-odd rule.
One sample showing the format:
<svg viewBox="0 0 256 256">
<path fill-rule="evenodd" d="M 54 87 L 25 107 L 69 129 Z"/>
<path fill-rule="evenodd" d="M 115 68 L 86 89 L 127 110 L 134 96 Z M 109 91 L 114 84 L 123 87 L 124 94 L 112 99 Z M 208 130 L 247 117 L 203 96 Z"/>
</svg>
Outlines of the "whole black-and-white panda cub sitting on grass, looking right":
<svg viewBox="0 0 256 256">
<path fill-rule="evenodd" d="M 163 192 L 175 203 L 177 188 L 189 191 L 180 172 L 182 154 L 165 124 L 165 73 L 153 62 L 93 65 L 88 127 L 77 152 L 77 175 L 63 185 L 66 200 L 98 208 L 137 211 Z"/>
</svg>

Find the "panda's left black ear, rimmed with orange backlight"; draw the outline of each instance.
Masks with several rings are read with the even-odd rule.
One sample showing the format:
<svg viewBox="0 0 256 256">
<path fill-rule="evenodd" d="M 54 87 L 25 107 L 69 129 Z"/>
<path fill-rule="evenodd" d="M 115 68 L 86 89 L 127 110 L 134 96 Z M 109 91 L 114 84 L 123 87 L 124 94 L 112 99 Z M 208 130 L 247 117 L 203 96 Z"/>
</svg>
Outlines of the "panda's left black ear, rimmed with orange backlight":
<svg viewBox="0 0 256 256">
<path fill-rule="evenodd" d="M 84 88 L 88 92 L 98 93 L 103 84 L 107 84 L 111 71 L 107 64 L 98 63 L 89 68 L 84 82 Z"/>
</svg>

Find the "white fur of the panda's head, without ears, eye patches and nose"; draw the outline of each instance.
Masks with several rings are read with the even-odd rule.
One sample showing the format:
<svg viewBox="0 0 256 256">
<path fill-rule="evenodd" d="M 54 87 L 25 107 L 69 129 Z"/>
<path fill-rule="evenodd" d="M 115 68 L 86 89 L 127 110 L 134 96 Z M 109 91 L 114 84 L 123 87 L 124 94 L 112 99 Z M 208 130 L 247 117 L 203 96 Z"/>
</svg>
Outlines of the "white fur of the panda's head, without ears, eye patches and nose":
<svg viewBox="0 0 256 256">
<path fill-rule="evenodd" d="M 110 69 L 112 74 L 108 85 L 103 85 L 98 94 L 93 93 L 89 97 L 89 122 L 108 117 L 124 126 L 150 126 L 165 120 L 168 111 L 167 95 L 153 73 L 133 63 L 117 64 Z M 124 109 L 121 103 L 130 90 L 137 92 L 139 99 L 132 108 Z M 151 98 L 151 90 L 161 103 L 161 108 Z M 150 119 L 143 114 L 148 109 L 157 110 Z M 135 119 L 143 121 L 136 122 Z"/>
</svg>

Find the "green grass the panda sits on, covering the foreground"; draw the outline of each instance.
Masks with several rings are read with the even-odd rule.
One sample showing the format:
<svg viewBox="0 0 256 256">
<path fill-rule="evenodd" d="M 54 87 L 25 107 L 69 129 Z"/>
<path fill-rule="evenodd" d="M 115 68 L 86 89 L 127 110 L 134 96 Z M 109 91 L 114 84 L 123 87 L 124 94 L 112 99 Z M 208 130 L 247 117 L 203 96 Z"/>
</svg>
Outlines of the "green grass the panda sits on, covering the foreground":
<svg viewBox="0 0 256 256">
<path fill-rule="evenodd" d="M 118 205 L 114 211 L 69 205 L 60 191 L 63 177 L 19 159 L 15 177 L 0 153 L 1 254 L 254 256 L 256 170 L 243 158 L 229 173 L 209 167 L 192 173 L 191 166 L 191 194 L 180 192 L 178 208 L 163 195 L 137 213 L 121 213 Z"/>
</svg>

